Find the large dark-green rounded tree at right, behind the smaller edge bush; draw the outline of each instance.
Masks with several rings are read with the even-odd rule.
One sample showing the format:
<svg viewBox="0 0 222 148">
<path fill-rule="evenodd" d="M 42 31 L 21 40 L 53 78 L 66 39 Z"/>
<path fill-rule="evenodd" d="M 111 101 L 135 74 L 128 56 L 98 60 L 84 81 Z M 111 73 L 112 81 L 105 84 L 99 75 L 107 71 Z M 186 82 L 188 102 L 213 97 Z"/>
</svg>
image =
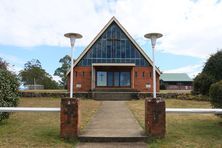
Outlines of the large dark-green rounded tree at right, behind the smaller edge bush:
<svg viewBox="0 0 222 148">
<path fill-rule="evenodd" d="M 193 93 L 208 95 L 211 84 L 222 80 L 222 50 L 211 55 L 193 81 Z"/>
</svg>

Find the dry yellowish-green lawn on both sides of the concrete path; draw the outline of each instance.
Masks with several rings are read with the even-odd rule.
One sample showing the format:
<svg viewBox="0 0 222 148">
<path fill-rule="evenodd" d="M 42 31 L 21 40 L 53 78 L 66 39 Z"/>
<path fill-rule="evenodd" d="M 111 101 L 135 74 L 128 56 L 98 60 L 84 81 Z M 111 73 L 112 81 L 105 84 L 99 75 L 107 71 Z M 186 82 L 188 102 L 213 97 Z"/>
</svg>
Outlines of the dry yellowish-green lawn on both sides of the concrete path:
<svg viewBox="0 0 222 148">
<path fill-rule="evenodd" d="M 81 100 L 81 128 L 87 124 L 100 105 Z M 144 127 L 144 100 L 127 102 Z M 209 102 L 166 100 L 167 107 L 210 108 Z M 59 98 L 22 98 L 19 106 L 59 107 Z M 0 123 L 0 147 L 74 147 L 77 141 L 59 137 L 59 113 L 13 113 Z M 149 140 L 149 147 L 222 147 L 222 118 L 214 115 L 169 114 L 164 139 Z"/>
</svg>

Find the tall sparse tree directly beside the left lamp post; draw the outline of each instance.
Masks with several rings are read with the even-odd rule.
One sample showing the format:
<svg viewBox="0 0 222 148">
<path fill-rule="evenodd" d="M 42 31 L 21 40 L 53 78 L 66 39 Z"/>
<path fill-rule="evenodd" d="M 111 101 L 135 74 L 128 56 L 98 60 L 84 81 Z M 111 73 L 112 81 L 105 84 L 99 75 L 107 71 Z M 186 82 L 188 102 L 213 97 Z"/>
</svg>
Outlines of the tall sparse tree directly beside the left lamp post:
<svg viewBox="0 0 222 148">
<path fill-rule="evenodd" d="M 67 88 L 67 76 L 66 73 L 69 71 L 71 67 L 71 58 L 70 56 L 66 55 L 59 60 L 59 63 L 62 64 L 61 67 L 55 70 L 54 75 L 59 76 L 61 81 L 59 81 L 60 85 L 64 88 Z"/>
</svg>

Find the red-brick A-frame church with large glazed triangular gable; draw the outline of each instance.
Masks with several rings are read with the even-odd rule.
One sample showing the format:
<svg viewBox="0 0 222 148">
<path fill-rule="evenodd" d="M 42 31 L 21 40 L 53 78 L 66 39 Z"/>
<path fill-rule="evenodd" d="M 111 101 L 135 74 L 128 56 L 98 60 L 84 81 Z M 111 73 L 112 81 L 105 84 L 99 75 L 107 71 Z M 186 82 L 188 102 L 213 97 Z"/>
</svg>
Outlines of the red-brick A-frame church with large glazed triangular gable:
<svg viewBox="0 0 222 148">
<path fill-rule="evenodd" d="M 151 59 L 115 17 L 75 60 L 73 70 L 74 93 L 97 89 L 153 90 Z M 67 74 L 70 78 L 70 71 Z M 156 68 L 157 91 L 159 76 Z"/>
</svg>

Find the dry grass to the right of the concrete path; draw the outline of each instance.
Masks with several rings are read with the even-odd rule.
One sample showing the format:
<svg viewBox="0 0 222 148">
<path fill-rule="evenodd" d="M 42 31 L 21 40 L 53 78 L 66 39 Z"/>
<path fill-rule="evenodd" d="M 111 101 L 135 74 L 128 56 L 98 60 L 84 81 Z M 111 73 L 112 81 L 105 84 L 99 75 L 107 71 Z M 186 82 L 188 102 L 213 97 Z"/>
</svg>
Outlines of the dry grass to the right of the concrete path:
<svg viewBox="0 0 222 148">
<path fill-rule="evenodd" d="M 144 100 L 127 102 L 144 128 Z M 166 100 L 170 108 L 211 108 L 209 102 Z M 148 141 L 149 147 L 222 147 L 222 118 L 207 114 L 167 114 L 166 137 Z"/>
</svg>

